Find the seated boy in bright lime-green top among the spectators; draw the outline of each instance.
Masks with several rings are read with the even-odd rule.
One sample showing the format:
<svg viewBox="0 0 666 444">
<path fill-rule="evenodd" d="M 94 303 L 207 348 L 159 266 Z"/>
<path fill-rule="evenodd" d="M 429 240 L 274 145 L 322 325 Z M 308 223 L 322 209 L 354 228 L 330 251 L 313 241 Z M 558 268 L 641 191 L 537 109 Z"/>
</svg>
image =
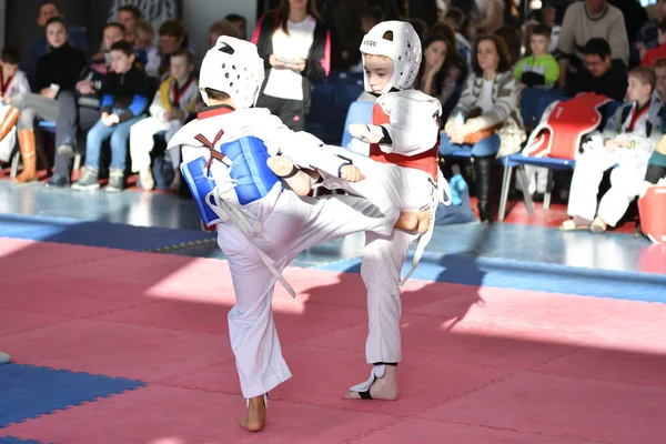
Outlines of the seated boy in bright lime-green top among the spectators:
<svg viewBox="0 0 666 444">
<path fill-rule="evenodd" d="M 549 43 L 551 28 L 547 24 L 535 26 L 529 36 L 532 56 L 521 60 L 514 70 L 522 88 L 549 89 L 559 78 L 557 60 L 547 52 Z"/>
</svg>

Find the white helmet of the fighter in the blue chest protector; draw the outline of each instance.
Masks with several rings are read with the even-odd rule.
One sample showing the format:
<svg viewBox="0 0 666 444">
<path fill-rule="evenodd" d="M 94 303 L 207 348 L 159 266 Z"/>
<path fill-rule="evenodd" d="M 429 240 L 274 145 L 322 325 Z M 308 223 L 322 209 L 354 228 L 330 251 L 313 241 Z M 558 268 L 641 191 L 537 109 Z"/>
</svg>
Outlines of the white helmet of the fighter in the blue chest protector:
<svg viewBox="0 0 666 444">
<path fill-rule="evenodd" d="M 209 104 L 206 88 L 225 92 L 236 108 L 251 108 L 256 103 L 264 80 L 264 64 L 256 47 L 248 41 L 222 36 L 201 63 L 199 89 Z"/>
</svg>

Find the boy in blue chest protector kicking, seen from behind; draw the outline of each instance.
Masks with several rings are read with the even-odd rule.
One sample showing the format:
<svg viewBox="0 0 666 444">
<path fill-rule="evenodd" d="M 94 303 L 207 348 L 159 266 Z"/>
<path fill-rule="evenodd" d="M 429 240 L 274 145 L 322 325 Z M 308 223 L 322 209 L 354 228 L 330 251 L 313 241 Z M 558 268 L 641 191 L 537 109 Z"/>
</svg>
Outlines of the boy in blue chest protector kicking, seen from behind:
<svg viewBox="0 0 666 444">
<path fill-rule="evenodd" d="M 221 37 L 201 69 L 201 94 L 209 107 L 169 142 L 169 148 L 182 145 L 183 178 L 229 259 L 236 297 L 229 313 L 230 339 L 249 408 L 241 425 L 252 432 L 264 426 L 268 392 L 291 376 L 271 310 L 276 280 L 293 295 L 281 271 L 314 244 L 357 231 L 390 235 L 394 223 L 401 226 L 397 210 L 382 212 L 365 199 L 301 199 L 283 189 L 266 167 L 271 155 L 283 154 L 271 164 L 290 171 L 283 174 L 287 183 L 304 175 L 292 162 L 344 180 L 363 175 L 316 138 L 294 133 L 270 111 L 251 108 L 263 77 L 254 44 Z M 289 161 L 286 169 L 282 160 Z"/>
</svg>

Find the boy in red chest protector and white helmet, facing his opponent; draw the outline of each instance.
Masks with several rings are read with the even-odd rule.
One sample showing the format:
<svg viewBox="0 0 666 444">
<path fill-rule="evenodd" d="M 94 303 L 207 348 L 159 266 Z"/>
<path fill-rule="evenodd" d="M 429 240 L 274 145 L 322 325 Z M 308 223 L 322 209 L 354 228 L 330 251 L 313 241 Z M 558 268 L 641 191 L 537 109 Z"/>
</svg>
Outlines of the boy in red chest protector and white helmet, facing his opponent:
<svg viewBox="0 0 666 444">
<path fill-rule="evenodd" d="M 342 188 L 369 198 L 381 210 L 391 206 L 406 211 L 430 210 L 434 216 L 447 189 L 437 165 L 442 107 L 438 100 L 412 88 L 422 58 L 418 34 L 407 22 L 385 21 L 364 37 L 361 53 L 365 90 L 377 95 L 377 101 L 371 125 L 350 125 L 353 137 L 371 143 L 370 158 L 347 155 L 367 179 L 343 183 L 324 173 L 324 186 Z M 446 195 L 451 193 L 446 191 Z M 402 281 L 402 265 L 418 234 L 394 231 L 390 235 L 377 232 L 365 235 L 361 265 L 367 289 L 370 329 L 365 354 L 367 363 L 374 366 L 366 382 L 350 389 L 349 398 L 397 397 L 400 285 L 414 271 L 433 226 L 431 223 L 418 241 L 412 271 Z"/>
</svg>

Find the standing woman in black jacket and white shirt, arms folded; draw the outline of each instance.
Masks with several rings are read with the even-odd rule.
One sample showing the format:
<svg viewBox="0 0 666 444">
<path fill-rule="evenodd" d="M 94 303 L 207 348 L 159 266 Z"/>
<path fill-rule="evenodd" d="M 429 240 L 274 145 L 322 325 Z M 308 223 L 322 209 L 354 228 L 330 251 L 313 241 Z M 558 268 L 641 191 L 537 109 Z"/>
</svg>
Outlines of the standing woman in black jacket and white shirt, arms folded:
<svg viewBox="0 0 666 444">
<path fill-rule="evenodd" d="M 294 131 L 305 128 L 312 83 L 331 69 L 331 33 L 314 1 L 282 0 L 259 20 L 252 36 L 266 69 L 256 105 Z"/>
</svg>

